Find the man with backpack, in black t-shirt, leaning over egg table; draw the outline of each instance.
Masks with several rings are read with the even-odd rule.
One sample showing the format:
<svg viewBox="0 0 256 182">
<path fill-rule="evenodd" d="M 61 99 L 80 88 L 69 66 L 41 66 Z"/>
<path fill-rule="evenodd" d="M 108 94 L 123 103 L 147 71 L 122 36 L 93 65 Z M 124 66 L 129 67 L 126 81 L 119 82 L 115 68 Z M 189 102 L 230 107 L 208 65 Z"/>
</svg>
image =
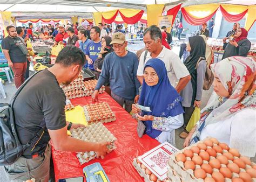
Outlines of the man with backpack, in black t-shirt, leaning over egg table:
<svg viewBox="0 0 256 182">
<path fill-rule="evenodd" d="M 109 152 L 109 142 L 84 142 L 67 135 L 67 129 L 78 128 L 82 124 L 66 122 L 66 98 L 59 84 L 68 85 L 75 80 L 84 62 L 84 53 L 78 47 L 64 47 L 55 65 L 33 76 L 17 96 L 14 118 L 21 143 L 28 143 L 41 128 L 44 128 L 44 132 L 14 164 L 4 166 L 9 180 L 25 181 L 30 177 L 36 181 L 48 181 L 50 139 L 57 150 L 95 151 L 97 157 L 102 158 Z"/>
</svg>

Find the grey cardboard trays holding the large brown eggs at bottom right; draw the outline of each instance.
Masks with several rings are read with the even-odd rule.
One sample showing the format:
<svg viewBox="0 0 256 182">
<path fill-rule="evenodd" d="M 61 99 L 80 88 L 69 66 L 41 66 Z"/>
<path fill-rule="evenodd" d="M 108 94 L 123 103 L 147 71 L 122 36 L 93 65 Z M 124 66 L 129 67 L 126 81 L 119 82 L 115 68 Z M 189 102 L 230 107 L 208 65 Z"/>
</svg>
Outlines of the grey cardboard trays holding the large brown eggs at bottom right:
<svg viewBox="0 0 256 182">
<path fill-rule="evenodd" d="M 206 138 L 206 139 L 210 139 L 210 138 Z M 185 169 L 184 167 L 184 163 L 183 162 L 178 162 L 176 160 L 176 156 L 179 154 L 179 153 L 183 153 L 184 150 L 187 150 L 187 149 L 191 149 L 192 146 L 197 146 L 199 143 L 204 143 L 204 141 L 206 141 L 206 139 L 204 139 L 203 141 L 199 141 L 197 143 L 194 143 L 190 146 L 187 146 L 186 148 L 184 148 L 183 150 L 180 150 L 178 151 L 177 153 L 173 154 L 170 156 L 170 159 L 169 159 L 169 162 L 168 162 L 168 165 L 169 165 L 169 171 L 167 172 L 167 178 L 170 180 L 170 181 L 198 181 L 198 182 L 203 182 L 204 179 L 197 179 L 195 176 L 194 176 L 194 171 L 191 170 L 191 169 Z M 216 146 L 217 144 L 213 143 L 213 146 Z M 210 149 L 211 146 L 207 146 L 207 149 Z M 201 151 L 204 151 L 204 150 L 200 150 Z M 223 153 L 226 153 L 228 152 L 227 150 L 224 150 L 223 149 Z M 194 153 L 194 155 L 198 155 L 197 153 Z M 218 153 L 217 152 L 217 157 L 218 156 L 221 156 L 222 154 L 221 153 Z M 241 157 L 241 156 L 240 156 Z M 210 156 L 210 160 L 211 159 L 214 159 L 215 157 L 212 157 Z M 234 159 L 238 159 L 239 157 L 235 157 L 234 156 Z M 190 157 L 186 157 L 186 160 L 192 160 Z M 209 161 L 210 161 L 209 160 Z M 208 161 L 207 160 L 203 160 L 203 163 L 206 163 L 208 164 Z M 228 163 L 233 163 L 232 160 L 228 160 Z M 255 165 L 254 163 L 252 163 L 252 165 Z M 221 164 L 221 167 L 226 167 L 225 164 Z M 246 164 L 246 167 L 251 167 L 250 165 L 247 165 Z M 196 165 L 196 169 L 200 169 L 200 165 Z M 219 172 L 218 169 L 213 169 L 213 172 Z M 240 168 L 240 172 L 246 172 L 245 169 L 242 169 Z M 211 174 L 208 174 L 206 173 L 206 177 L 212 177 Z M 239 177 L 238 173 L 232 173 L 232 178 L 234 177 Z M 256 181 L 256 178 L 252 178 L 253 181 Z M 225 182 L 231 182 L 232 180 L 230 178 L 225 178 Z"/>
</svg>

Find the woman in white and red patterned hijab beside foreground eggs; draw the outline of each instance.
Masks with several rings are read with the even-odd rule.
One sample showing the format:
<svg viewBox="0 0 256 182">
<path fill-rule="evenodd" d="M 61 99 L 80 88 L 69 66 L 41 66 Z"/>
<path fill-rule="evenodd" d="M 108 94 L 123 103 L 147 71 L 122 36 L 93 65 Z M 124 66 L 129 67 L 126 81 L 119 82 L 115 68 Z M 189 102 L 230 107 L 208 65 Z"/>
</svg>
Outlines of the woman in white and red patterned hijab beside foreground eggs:
<svg viewBox="0 0 256 182">
<path fill-rule="evenodd" d="M 255 61 L 235 56 L 211 65 L 214 92 L 184 146 L 210 136 L 238 149 L 241 155 L 255 156 Z"/>
</svg>

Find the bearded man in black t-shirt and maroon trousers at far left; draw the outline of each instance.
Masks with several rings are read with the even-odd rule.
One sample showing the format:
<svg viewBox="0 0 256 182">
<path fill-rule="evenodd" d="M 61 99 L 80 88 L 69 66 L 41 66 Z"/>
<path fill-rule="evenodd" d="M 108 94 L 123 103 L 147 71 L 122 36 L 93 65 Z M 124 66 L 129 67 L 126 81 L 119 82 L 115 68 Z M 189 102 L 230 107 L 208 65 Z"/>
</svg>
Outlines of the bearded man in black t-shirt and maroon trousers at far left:
<svg viewBox="0 0 256 182">
<path fill-rule="evenodd" d="M 14 82 L 16 88 L 22 85 L 25 81 L 24 75 L 26 72 L 26 54 L 19 48 L 22 40 L 17 37 L 17 31 L 14 26 L 6 27 L 8 36 L 2 40 L 2 50 L 8 66 L 14 71 Z"/>
</svg>

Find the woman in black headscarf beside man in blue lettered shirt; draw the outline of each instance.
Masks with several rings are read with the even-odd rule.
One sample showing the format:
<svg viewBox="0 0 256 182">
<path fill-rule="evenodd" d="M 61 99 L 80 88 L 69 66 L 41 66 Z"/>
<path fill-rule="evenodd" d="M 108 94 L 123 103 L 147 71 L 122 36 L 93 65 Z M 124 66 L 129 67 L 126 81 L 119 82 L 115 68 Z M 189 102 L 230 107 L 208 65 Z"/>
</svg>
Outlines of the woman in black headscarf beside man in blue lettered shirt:
<svg viewBox="0 0 256 182">
<path fill-rule="evenodd" d="M 102 38 L 102 48 L 99 52 L 99 56 L 96 59 L 96 61 L 94 62 L 93 66 L 96 70 L 96 79 L 99 79 L 99 75 L 102 72 L 102 65 L 103 65 L 103 61 L 104 58 L 107 54 L 113 52 L 113 48 L 112 45 L 110 45 L 112 39 L 109 36 L 105 36 Z"/>
</svg>

